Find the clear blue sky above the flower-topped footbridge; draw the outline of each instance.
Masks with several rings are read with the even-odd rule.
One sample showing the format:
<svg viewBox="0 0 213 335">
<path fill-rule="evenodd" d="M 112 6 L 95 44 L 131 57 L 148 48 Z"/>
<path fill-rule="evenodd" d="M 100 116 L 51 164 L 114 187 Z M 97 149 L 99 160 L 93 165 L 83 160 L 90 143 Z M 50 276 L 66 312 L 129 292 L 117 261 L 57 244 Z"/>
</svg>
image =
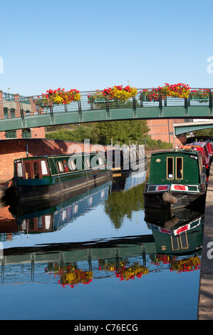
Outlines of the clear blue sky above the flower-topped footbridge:
<svg viewBox="0 0 213 335">
<path fill-rule="evenodd" d="M 128 81 L 213 88 L 212 7 L 209 0 L 1 1 L 0 89 L 27 96 Z"/>
</svg>

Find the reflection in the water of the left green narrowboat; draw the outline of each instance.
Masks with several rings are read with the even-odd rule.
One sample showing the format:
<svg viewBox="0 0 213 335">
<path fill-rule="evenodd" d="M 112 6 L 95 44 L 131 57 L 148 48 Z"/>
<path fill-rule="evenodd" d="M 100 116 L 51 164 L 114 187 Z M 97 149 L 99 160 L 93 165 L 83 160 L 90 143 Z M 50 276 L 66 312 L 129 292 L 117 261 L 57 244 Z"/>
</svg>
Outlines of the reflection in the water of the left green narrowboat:
<svg viewBox="0 0 213 335">
<path fill-rule="evenodd" d="M 16 204 L 9 210 L 16 217 L 19 230 L 26 232 L 53 232 L 60 230 L 81 215 L 93 210 L 96 206 L 108 199 L 111 182 L 78 194 L 73 193 L 71 199 L 61 203 L 60 198 L 51 202 L 51 207 L 44 207 L 43 202 L 33 207 L 33 203 Z"/>
</svg>

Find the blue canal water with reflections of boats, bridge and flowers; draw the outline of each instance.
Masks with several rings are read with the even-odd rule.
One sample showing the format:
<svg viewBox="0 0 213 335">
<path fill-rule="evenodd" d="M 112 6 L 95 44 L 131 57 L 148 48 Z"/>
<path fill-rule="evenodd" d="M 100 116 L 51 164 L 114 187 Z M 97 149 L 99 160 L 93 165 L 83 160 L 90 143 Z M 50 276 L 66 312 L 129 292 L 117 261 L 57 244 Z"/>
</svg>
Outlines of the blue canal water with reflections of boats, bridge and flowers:
<svg viewBox="0 0 213 335">
<path fill-rule="evenodd" d="M 0 319 L 197 319 L 204 215 L 145 210 L 145 177 L 1 209 Z"/>
</svg>

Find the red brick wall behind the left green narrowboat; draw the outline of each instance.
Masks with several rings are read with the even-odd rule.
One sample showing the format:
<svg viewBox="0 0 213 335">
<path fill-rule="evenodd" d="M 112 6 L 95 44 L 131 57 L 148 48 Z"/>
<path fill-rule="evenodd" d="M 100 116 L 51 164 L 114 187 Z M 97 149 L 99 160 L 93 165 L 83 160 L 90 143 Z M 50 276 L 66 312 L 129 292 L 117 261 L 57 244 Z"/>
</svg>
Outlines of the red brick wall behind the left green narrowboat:
<svg viewBox="0 0 213 335">
<path fill-rule="evenodd" d="M 0 180 L 10 180 L 14 176 L 14 160 L 16 158 L 25 158 L 26 150 L 28 156 L 61 155 L 67 153 L 105 150 L 100 145 L 90 144 L 84 147 L 83 143 L 74 143 L 63 140 L 40 139 L 14 139 L 1 140 L 0 145 Z"/>
</svg>

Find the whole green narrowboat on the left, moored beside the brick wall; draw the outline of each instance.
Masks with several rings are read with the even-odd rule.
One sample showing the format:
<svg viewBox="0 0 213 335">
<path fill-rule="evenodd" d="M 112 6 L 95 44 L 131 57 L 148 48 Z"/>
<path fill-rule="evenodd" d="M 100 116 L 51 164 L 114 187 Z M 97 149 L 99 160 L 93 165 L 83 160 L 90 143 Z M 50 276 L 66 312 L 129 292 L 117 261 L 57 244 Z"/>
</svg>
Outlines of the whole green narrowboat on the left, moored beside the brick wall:
<svg viewBox="0 0 213 335">
<path fill-rule="evenodd" d="M 74 153 L 14 160 L 14 178 L 6 200 L 50 200 L 73 190 L 85 192 L 112 180 L 105 153 Z"/>
</svg>

